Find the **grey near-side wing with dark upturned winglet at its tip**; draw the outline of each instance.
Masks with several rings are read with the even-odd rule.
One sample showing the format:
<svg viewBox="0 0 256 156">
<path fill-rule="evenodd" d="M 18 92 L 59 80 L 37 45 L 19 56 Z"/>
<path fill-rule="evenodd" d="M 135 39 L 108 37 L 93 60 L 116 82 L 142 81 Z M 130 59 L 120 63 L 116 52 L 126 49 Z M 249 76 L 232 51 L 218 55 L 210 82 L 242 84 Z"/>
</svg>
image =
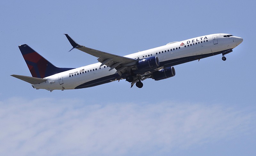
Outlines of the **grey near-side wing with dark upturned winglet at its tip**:
<svg viewBox="0 0 256 156">
<path fill-rule="evenodd" d="M 110 67 L 109 71 L 116 69 L 116 72 L 121 76 L 125 71 L 130 71 L 131 68 L 138 62 L 137 59 L 128 58 L 124 56 L 118 56 L 110 53 L 106 53 L 100 50 L 88 48 L 82 45 L 79 45 L 74 41 L 68 34 L 65 34 L 68 38 L 68 41 L 73 46 L 72 49 L 76 48 L 87 54 L 98 57 L 98 61 L 101 63 L 100 66 L 107 65 Z M 71 50 L 72 50 L 71 49 Z M 69 51 L 71 51 L 69 50 Z"/>
</svg>

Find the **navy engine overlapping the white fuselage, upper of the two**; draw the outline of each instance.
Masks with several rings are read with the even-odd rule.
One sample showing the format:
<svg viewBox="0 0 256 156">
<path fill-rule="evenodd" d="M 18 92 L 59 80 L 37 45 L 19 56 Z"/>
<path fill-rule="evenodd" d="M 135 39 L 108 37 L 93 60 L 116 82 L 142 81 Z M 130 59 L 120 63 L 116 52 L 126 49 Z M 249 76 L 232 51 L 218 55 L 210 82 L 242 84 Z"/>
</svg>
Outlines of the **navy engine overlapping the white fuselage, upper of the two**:
<svg viewBox="0 0 256 156">
<path fill-rule="evenodd" d="M 155 69 L 158 66 L 159 59 L 157 56 L 145 57 L 140 59 L 136 64 L 137 69 L 141 71 Z"/>
</svg>

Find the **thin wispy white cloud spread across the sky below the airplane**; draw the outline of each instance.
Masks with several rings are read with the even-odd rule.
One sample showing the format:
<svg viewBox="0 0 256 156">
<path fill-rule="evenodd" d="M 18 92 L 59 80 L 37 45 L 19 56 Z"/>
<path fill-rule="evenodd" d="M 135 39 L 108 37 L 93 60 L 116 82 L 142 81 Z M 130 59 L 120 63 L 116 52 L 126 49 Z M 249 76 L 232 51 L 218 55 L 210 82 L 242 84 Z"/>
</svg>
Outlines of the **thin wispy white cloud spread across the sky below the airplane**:
<svg viewBox="0 0 256 156">
<path fill-rule="evenodd" d="M 254 118 L 220 105 L 174 102 L 12 98 L 0 104 L 0 155 L 159 155 L 234 137 Z"/>
</svg>

